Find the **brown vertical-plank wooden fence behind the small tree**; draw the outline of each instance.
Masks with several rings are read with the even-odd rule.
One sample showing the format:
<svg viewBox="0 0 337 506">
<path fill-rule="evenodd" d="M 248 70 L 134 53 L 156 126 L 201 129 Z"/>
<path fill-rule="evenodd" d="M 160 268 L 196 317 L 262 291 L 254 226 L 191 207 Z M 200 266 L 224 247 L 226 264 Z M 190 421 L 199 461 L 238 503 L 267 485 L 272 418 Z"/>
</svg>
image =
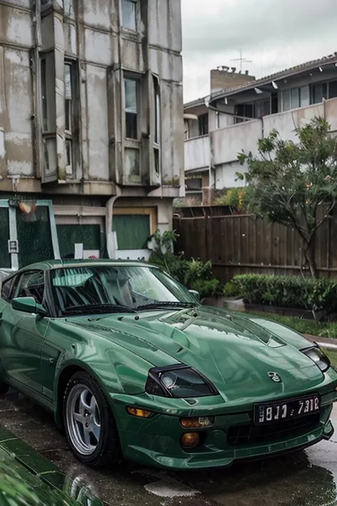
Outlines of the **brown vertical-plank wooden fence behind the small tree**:
<svg viewBox="0 0 337 506">
<path fill-rule="evenodd" d="M 260 218 L 175 216 L 176 251 L 186 258 L 211 260 L 223 283 L 236 274 L 300 274 L 301 239 L 296 231 Z M 337 278 L 337 212 L 318 231 L 316 263 L 321 276 Z"/>
</svg>

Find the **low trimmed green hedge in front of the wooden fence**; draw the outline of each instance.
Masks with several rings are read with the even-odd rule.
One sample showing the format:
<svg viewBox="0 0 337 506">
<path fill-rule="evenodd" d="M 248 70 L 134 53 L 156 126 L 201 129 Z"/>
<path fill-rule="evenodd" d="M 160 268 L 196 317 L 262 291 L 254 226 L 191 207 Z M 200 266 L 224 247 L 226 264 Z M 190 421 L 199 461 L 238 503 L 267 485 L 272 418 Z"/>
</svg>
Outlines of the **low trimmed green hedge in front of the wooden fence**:
<svg viewBox="0 0 337 506">
<path fill-rule="evenodd" d="M 326 278 L 237 275 L 225 287 L 228 292 L 252 304 L 337 312 L 337 281 Z"/>
</svg>

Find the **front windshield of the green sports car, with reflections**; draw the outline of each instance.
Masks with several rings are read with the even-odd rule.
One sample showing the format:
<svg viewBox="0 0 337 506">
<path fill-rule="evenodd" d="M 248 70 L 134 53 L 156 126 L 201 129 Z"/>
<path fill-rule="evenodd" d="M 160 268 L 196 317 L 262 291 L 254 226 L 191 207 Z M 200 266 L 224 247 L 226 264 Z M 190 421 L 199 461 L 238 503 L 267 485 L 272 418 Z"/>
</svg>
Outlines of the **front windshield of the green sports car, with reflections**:
<svg viewBox="0 0 337 506">
<path fill-rule="evenodd" d="M 90 265 L 51 271 L 59 315 L 67 312 L 135 310 L 156 305 L 193 305 L 196 298 L 151 266 Z"/>
</svg>

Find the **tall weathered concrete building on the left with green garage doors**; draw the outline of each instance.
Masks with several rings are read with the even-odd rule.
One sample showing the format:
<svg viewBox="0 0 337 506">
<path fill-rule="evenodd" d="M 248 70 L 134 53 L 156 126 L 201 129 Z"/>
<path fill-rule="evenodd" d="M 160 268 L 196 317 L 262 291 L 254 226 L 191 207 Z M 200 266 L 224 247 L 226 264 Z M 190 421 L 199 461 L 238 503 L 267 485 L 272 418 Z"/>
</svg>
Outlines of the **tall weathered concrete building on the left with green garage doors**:
<svg viewBox="0 0 337 506">
<path fill-rule="evenodd" d="M 0 0 L 0 267 L 146 257 L 184 194 L 182 96 L 180 0 Z"/>
</svg>

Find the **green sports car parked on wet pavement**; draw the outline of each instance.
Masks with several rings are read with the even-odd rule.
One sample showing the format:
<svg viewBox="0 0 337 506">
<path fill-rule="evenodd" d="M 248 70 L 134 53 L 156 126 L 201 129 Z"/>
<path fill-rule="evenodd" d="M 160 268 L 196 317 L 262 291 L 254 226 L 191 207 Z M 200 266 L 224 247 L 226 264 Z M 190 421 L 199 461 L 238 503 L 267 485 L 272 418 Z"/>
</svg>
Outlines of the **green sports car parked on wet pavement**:
<svg viewBox="0 0 337 506">
<path fill-rule="evenodd" d="M 87 465 L 211 468 L 332 436 L 337 371 L 316 344 L 148 263 L 30 265 L 3 280 L 0 315 L 1 381 Z"/>
</svg>

